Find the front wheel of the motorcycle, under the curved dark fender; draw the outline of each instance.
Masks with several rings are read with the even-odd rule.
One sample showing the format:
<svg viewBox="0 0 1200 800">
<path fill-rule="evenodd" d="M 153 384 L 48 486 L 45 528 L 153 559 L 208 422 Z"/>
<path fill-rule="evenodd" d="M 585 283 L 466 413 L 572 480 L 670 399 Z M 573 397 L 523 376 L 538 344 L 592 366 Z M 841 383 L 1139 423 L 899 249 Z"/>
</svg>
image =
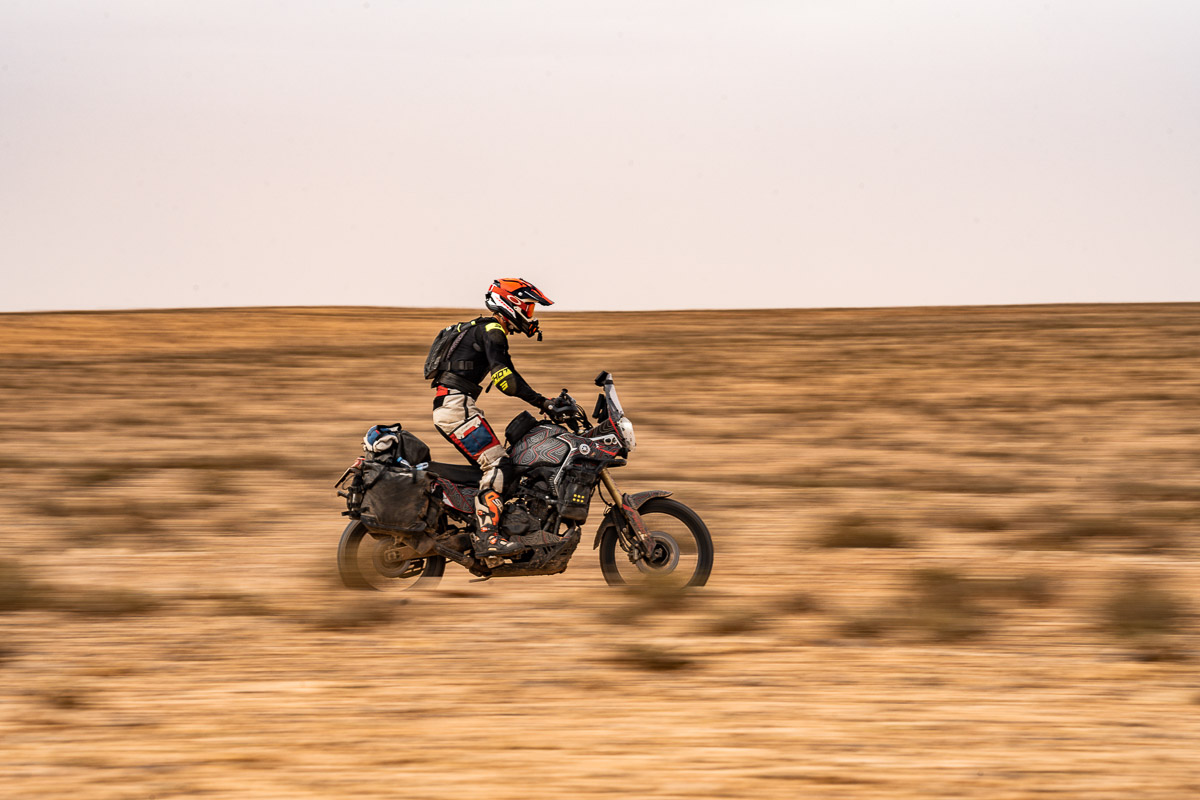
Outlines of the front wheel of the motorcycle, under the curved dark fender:
<svg viewBox="0 0 1200 800">
<path fill-rule="evenodd" d="M 649 558 L 630 561 L 617 537 L 606 528 L 600 537 L 600 570 L 611 585 L 660 583 L 702 587 L 713 571 L 713 537 L 695 511 L 670 498 L 646 501 L 638 513 L 654 539 Z"/>
</svg>

